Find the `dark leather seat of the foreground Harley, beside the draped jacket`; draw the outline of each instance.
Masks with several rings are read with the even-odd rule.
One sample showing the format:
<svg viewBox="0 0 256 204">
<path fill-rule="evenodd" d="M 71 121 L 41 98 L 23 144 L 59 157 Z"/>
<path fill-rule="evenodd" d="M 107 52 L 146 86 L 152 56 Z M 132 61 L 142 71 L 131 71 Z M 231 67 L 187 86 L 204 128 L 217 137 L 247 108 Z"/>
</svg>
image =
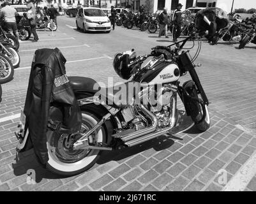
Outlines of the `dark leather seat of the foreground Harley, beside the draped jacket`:
<svg viewBox="0 0 256 204">
<path fill-rule="evenodd" d="M 68 77 L 73 92 L 89 92 L 98 96 L 101 101 L 114 108 L 123 108 L 132 104 L 132 98 L 137 96 L 140 91 L 139 82 L 126 82 L 114 87 L 100 87 L 92 78 L 87 77 Z"/>
</svg>

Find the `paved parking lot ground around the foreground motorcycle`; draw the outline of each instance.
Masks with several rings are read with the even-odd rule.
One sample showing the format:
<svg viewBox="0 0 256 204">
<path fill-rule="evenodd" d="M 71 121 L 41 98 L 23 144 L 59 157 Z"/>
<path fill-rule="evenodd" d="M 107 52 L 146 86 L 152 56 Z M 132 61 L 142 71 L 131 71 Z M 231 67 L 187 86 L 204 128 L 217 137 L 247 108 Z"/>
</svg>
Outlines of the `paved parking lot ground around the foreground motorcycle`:
<svg viewBox="0 0 256 204">
<path fill-rule="evenodd" d="M 20 69 L 14 80 L 3 85 L 0 105 L 0 191 L 221 191 L 219 170 L 229 182 L 252 158 L 256 149 L 256 47 L 238 50 L 237 44 L 202 42 L 197 62 L 200 80 L 211 104 L 211 128 L 205 133 L 190 129 L 172 140 L 163 135 L 128 149 L 103 152 L 90 170 L 63 178 L 43 169 L 33 150 L 15 159 L 17 123 L 24 106 L 29 67 L 36 48 L 59 47 L 67 59 L 68 76 L 91 77 L 107 82 L 122 81 L 112 68 L 116 52 L 135 48 L 147 54 L 155 45 L 169 45 L 158 34 L 116 27 L 109 34 L 76 31 L 75 18 L 59 17 L 55 36 L 38 31 L 37 43 L 20 43 Z M 188 43 L 188 47 L 192 42 Z M 191 51 L 193 55 L 195 49 Z M 91 59 L 91 60 L 87 60 Z M 183 77 L 182 81 L 188 80 Z M 180 104 L 179 104 L 179 107 Z M 36 184 L 27 184 L 27 170 L 36 172 Z M 245 191 L 256 191 L 256 177 Z"/>
</svg>

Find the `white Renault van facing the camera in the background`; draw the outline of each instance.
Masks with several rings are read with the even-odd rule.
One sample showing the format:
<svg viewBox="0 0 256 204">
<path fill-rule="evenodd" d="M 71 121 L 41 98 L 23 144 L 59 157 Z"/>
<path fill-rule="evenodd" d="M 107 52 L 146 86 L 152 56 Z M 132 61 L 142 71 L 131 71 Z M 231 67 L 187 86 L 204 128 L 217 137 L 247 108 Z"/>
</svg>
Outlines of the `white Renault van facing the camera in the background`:
<svg viewBox="0 0 256 204">
<path fill-rule="evenodd" d="M 101 8 L 82 7 L 79 8 L 75 20 L 77 30 L 87 31 L 106 31 L 110 33 L 110 20 Z"/>
</svg>

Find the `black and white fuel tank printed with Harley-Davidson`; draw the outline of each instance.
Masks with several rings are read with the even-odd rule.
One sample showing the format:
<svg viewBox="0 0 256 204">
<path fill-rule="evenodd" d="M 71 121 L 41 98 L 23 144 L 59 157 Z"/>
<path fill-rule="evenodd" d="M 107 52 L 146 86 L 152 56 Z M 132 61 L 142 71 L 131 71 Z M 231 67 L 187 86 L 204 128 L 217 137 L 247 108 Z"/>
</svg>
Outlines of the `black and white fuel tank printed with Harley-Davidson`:
<svg viewBox="0 0 256 204">
<path fill-rule="evenodd" d="M 168 84 L 180 77 L 179 67 L 174 62 L 161 62 L 151 68 L 142 69 L 133 81 L 147 84 Z"/>
</svg>

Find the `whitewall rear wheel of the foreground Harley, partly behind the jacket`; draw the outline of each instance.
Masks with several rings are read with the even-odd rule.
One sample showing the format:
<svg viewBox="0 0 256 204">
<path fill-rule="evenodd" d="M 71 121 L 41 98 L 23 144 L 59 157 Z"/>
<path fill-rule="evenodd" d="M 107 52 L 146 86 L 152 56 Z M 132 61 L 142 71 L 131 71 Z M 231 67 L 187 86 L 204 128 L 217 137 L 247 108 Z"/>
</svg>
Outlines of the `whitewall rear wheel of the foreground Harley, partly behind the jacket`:
<svg viewBox="0 0 256 204">
<path fill-rule="evenodd" d="M 85 132 L 97 124 L 98 119 L 92 113 L 82 111 L 82 129 Z M 72 144 L 77 140 L 76 135 L 48 135 L 47 149 L 49 161 L 47 168 L 59 175 L 76 175 L 91 168 L 100 157 L 100 150 L 96 149 L 79 149 L 73 150 Z M 93 143 L 106 142 L 105 129 L 96 130 L 91 135 Z"/>
</svg>

